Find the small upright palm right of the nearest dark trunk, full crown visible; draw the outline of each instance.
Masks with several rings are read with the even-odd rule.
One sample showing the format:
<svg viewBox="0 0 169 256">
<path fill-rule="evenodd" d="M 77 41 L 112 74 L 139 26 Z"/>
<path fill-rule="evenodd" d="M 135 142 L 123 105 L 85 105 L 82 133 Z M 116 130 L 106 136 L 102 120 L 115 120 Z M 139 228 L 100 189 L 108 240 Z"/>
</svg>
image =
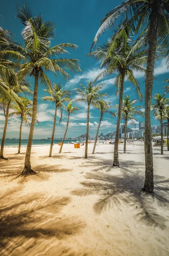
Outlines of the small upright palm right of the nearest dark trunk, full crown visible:
<svg viewBox="0 0 169 256">
<path fill-rule="evenodd" d="M 152 111 L 155 116 L 160 116 L 160 126 L 161 126 L 161 154 L 163 154 L 163 116 L 165 115 L 166 105 L 169 99 L 165 98 L 165 93 L 162 95 L 156 93 L 153 97 L 155 99 L 155 104 L 152 104 Z"/>
</svg>

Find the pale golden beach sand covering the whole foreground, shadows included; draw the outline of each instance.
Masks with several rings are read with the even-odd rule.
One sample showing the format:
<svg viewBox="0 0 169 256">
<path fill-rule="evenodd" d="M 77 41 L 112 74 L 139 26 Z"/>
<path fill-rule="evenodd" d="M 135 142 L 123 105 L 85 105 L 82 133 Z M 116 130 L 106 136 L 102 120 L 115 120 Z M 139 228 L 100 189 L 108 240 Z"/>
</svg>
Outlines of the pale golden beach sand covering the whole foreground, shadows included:
<svg viewBox="0 0 169 256">
<path fill-rule="evenodd" d="M 0 160 L 0 256 L 169 255 L 169 153 L 153 148 L 155 194 L 140 192 L 144 147 L 114 145 L 32 148 L 37 175 L 18 177 L 26 148 Z"/>
</svg>

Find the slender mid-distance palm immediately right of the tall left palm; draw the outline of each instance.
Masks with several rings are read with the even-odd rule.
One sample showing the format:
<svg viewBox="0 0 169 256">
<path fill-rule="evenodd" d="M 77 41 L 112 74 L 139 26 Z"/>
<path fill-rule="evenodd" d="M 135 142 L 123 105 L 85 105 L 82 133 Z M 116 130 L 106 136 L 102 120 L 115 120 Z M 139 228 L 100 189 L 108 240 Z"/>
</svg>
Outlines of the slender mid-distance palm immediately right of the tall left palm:
<svg viewBox="0 0 169 256">
<path fill-rule="evenodd" d="M 55 104 L 55 113 L 54 113 L 54 122 L 53 122 L 53 131 L 52 131 L 52 138 L 51 138 L 51 146 L 49 151 L 49 157 L 52 155 L 52 148 L 53 148 L 53 141 L 54 141 L 54 131 L 56 126 L 56 116 L 57 116 L 57 108 L 61 110 L 61 117 L 60 122 L 62 120 L 62 106 L 64 106 L 64 103 L 67 101 L 70 101 L 69 95 L 71 95 L 71 92 L 68 90 L 63 90 L 61 84 L 55 84 L 53 85 L 52 90 L 45 90 L 47 91 L 51 96 L 43 96 L 42 101 L 47 100 L 50 102 L 54 102 Z"/>
</svg>

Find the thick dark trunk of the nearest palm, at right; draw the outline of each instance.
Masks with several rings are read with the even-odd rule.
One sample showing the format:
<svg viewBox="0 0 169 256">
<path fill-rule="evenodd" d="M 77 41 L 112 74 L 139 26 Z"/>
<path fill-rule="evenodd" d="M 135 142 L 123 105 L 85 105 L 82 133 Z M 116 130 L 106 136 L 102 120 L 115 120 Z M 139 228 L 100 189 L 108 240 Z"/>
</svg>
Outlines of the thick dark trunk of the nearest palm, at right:
<svg viewBox="0 0 169 256">
<path fill-rule="evenodd" d="M 145 82 L 145 182 L 143 191 L 153 193 L 153 157 L 152 157 L 152 134 L 151 134 L 151 104 L 152 104 L 152 87 L 154 79 L 154 65 L 155 65 L 155 52 L 157 46 L 157 25 L 158 25 L 158 11 L 157 1 L 152 3 L 152 14 L 150 18 L 149 28 L 149 52 L 146 65 L 146 82 Z"/>
</svg>

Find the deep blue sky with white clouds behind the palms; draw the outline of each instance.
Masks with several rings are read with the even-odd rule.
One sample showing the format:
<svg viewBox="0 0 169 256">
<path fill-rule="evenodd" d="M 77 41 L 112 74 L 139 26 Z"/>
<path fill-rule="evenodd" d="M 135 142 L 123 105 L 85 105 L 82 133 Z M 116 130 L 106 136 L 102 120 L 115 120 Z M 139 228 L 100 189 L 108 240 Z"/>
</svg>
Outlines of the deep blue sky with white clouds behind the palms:
<svg viewBox="0 0 169 256">
<path fill-rule="evenodd" d="M 80 61 L 81 73 L 71 73 L 70 80 L 67 82 L 63 80 L 59 75 L 55 77 L 53 74 L 49 73 L 48 76 L 52 82 L 61 83 L 64 87 L 71 90 L 74 87 L 79 87 L 79 84 L 86 85 L 89 80 L 94 80 L 95 77 L 100 73 L 99 63 L 95 61 L 92 57 L 86 57 L 89 53 L 93 38 L 97 32 L 100 25 L 100 20 L 114 8 L 117 4 L 122 1 L 112 1 L 112 0 L 29 0 L 29 3 L 33 15 L 43 15 L 43 20 L 51 20 L 55 23 L 55 39 L 52 41 L 52 46 L 60 43 L 73 43 L 78 45 L 78 49 L 72 50 L 67 58 L 77 58 Z M 14 33 L 17 41 L 22 43 L 21 31 L 23 25 L 20 23 L 17 15 L 17 5 L 22 5 L 21 1 L 9 0 L 4 1 L 1 5 L 0 15 L 2 19 L 0 20 L 0 26 L 3 29 L 9 29 Z M 9 8 L 10 6 L 10 8 Z M 109 33 L 106 33 L 100 38 L 99 43 L 103 43 L 109 37 Z M 63 56 L 60 55 L 60 58 Z M 144 78 L 143 74 L 135 74 L 138 81 L 140 82 L 141 91 L 144 95 Z M 111 78 L 108 77 L 104 79 L 105 89 L 104 91 L 109 95 L 109 101 L 112 105 L 118 103 L 118 98 L 115 97 L 116 88 L 114 87 L 114 78 L 116 74 Z M 153 86 L 153 95 L 155 93 L 162 93 L 163 80 L 169 78 L 169 73 L 165 67 L 165 61 L 157 61 L 155 63 L 155 81 Z M 34 84 L 33 79 L 30 79 L 32 86 Z M 73 92 L 73 91 L 72 91 Z M 124 96 L 126 94 L 131 96 L 131 99 L 135 99 L 135 89 L 132 89 L 132 85 L 129 82 L 125 82 Z M 46 95 L 42 87 L 39 87 L 38 92 L 38 119 L 40 125 L 35 125 L 34 139 L 50 137 L 52 134 L 52 125 L 54 117 L 54 105 L 47 102 L 41 102 L 42 97 Z M 74 93 L 72 98 L 74 98 Z M 75 104 L 75 103 L 74 103 Z M 84 103 L 76 103 L 80 110 L 72 115 L 70 119 L 69 130 L 67 137 L 75 137 L 86 133 L 86 105 Z M 138 105 L 140 103 L 138 102 Z M 144 111 L 144 101 L 141 104 Z M 97 123 L 99 121 L 99 111 L 91 108 L 90 111 L 90 136 L 95 136 L 97 130 Z M 62 137 L 66 125 L 66 113 L 63 114 L 63 122 L 61 125 L 58 123 L 59 118 L 57 118 L 57 126 L 55 130 L 55 137 Z M 143 121 L 143 118 L 137 116 L 137 122 Z M 158 121 L 152 117 L 152 125 L 159 125 Z M 0 112 L 0 137 L 3 134 L 4 126 L 4 116 L 3 112 Z M 6 137 L 19 137 L 19 126 L 20 119 L 16 116 L 10 117 Z M 132 124 L 129 122 L 129 127 L 133 128 Z M 100 127 L 100 132 L 106 134 L 108 132 L 115 131 L 116 128 L 116 118 L 110 119 L 109 114 L 106 114 L 103 119 L 103 123 Z M 137 125 L 138 128 L 138 125 Z M 137 129 L 136 128 L 136 129 Z M 28 138 L 29 127 L 23 126 L 23 139 Z"/>
</svg>

